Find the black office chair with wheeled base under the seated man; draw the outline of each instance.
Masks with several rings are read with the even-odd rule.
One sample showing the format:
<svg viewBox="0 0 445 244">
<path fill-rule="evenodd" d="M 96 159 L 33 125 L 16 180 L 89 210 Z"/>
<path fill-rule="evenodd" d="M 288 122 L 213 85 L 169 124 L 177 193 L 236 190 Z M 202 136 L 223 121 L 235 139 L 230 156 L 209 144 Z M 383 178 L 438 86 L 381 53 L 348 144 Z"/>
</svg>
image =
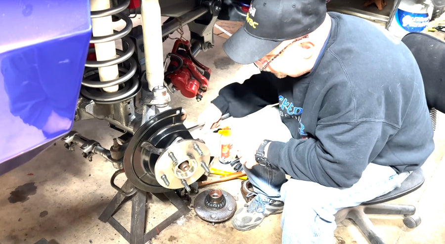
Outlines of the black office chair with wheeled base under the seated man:
<svg viewBox="0 0 445 244">
<path fill-rule="evenodd" d="M 433 127 L 436 128 L 437 110 L 445 112 L 445 42 L 424 33 L 409 33 L 403 37 L 402 41 L 411 50 L 419 65 L 430 116 Z M 402 182 L 400 188 L 356 207 L 340 210 L 335 215 L 336 222 L 339 223 L 345 218 L 350 219 L 371 244 L 384 244 L 383 240 L 373 231 L 373 224 L 366 214 L 403 215 L 403 223 L 406 227 L 417 227 L 420 224 L 420 217 L 414 215 L 415 206 L 386 202 L 417 190 L 422 186 L 424 180 L 423 171 L 419 168 Z"/>
</svg>

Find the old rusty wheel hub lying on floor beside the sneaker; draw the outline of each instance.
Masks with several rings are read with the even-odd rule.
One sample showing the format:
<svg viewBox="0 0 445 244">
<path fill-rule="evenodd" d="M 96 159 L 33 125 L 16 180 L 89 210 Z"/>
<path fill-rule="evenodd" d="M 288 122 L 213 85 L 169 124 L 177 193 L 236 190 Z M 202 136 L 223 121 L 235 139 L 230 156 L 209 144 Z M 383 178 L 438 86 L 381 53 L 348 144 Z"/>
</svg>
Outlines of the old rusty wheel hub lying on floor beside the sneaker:
<svg viewBox="0 0 445 244">
<path fill-rule="evenodd" d="M 232 195 L 220 189 L 205 190 L 196 196 L 193 205 L 196 215 L 211 223 L 230 219 L 236 210 L 235 199 Z"/>
</svg>

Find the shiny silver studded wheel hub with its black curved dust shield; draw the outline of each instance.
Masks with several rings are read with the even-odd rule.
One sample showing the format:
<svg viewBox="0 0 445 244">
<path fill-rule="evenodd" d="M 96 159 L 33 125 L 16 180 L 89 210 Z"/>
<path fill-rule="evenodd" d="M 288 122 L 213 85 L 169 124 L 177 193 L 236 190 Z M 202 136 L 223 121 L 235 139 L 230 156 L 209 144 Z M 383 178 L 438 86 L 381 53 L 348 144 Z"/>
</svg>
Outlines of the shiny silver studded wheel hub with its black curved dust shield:
<svg viewBox="0 0 445 244">
<path fill-rule="evenodd" d="M 209 171 L 210 150 L 182 123 L 181 108 L 155 115 L 134 133 L 124 155 L 127 178 L 151 193 L 185 188 Z"/>
</svg>

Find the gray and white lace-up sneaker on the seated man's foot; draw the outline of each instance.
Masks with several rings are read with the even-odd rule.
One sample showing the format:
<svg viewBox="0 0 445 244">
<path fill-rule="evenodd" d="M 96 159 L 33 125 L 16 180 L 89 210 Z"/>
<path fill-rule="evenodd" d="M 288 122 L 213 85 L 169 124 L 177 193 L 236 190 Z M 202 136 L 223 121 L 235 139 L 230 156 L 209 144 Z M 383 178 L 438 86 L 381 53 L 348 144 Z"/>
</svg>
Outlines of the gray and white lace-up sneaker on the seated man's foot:
<svg viewBox="0 0 445 244">
<path fill-rule="evenodd" d="M 260 225 L 263 219 L 270 214 L 277 214 L 283 211 L 284 203 L 281 201 L 262 201 L 256 196 L 244 207 L 238 209 L 233 215 L 232 225 L 239 231 L 248 231 Z"/>
</svg>

